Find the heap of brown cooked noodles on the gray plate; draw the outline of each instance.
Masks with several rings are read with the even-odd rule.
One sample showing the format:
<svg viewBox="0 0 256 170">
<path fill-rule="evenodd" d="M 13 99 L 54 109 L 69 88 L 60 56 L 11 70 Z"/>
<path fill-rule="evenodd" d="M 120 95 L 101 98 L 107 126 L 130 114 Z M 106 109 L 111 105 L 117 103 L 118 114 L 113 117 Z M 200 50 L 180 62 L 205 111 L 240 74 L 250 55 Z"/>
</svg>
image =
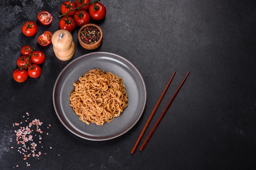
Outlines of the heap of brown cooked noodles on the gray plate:
<svg viewBox="0 0 256 170">
<path fill-rule="evenodd" d="M 111 122 L 128 105 L 122 78 L 105 70 L 92 69 L 73 85 L 70 106 L 79 119 L 87 124 Z"/>
</svg>

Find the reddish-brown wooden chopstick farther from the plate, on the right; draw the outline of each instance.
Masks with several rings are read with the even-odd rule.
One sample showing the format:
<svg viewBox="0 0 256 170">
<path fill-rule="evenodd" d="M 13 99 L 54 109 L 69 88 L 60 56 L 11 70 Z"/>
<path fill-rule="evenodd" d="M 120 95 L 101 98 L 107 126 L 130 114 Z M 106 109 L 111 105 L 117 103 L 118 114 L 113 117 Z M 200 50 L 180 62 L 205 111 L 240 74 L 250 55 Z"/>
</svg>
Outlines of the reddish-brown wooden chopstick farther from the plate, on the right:
<svg viewBox="0 0 256 170">
<path fill-rule="evenodd" d="M 189 71 L 190 72 L 190 71 Z M 184 81 L 186 80 L 187 76 L 189 75 L 189 72 L 186 74 L 185 78 L 183 79 L 183 81 L 180 83 L 180 86 L 177 88 L 176 92 L 173 94 L 173 97 L 171 98 L 171 100 L 168 102 L 168 105 L 166 106 L 166 108 L 164 109 L 164 111 L 162 112 L 161 116 L 159 117 L 159 119 L 157 120 L 157 122 L 155 123 L 155 125 L 153 126 L 152 130 L 150 131 L 150 133 L 148 134 L 148 136 L 146 137 L 144 143 L 141 145 L 141 147 L 139 148 L 140 151 L 143 151 L 144 148 L 146 147 L 146 145 L 148 144 L 148 141 L 150 140 L 150 138 L 152 137 L 153 133 L 155 132 L 155 130 L 157 129 L 157 126 L 160 124 L 161 120 L 164 118 L 165 113 L 167 112 L 167 110 L 169 109 L 169 107 L 171 106 L 171 103 L 173 102 L 174 98 L 177 96 L 177 93 L 179 92 L 180 88 L 182 87 Z"/>
</svg>

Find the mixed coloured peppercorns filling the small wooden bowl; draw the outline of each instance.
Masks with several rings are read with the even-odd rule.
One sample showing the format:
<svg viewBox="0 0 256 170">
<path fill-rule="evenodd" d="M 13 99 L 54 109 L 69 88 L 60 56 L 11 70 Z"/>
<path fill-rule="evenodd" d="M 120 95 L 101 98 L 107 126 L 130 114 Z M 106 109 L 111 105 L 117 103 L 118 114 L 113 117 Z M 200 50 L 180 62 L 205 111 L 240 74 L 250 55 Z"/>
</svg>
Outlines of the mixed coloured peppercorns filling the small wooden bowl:
<svg viewBox="0 0 256 170">
<path fill-rule="evenodd" d="M 94 26 L 85 26 L 80 32 L 80 38 L 86 44 L 94 44 L 99 41 L 101 33 L 98 28 Z"/>
</svg>

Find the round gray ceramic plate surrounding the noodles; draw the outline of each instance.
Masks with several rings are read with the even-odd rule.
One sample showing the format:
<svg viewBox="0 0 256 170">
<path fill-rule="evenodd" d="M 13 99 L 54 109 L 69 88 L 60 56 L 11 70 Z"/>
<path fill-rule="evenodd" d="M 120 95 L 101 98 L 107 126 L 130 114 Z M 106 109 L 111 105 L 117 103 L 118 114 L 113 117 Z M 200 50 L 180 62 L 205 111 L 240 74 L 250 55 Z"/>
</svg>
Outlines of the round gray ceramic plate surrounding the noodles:
<svg viewBox="0 0 256 170">
<path fill-rule="evenodd" d="M 73 83 L 94 68 L 123 78 L 128 94 L 128 107 L 103 126 L 85 124 L 70 107 Z M 74 59 L 61 71 L 54 85 L 53 104 L 62 124 L 75 135 L 95 141 L 108 140 L 126 133 L 137 123 L 146 105 L 146 86 L 137 68 L 128 60 L 109 52 L 92 52 Z"/>
</svg>

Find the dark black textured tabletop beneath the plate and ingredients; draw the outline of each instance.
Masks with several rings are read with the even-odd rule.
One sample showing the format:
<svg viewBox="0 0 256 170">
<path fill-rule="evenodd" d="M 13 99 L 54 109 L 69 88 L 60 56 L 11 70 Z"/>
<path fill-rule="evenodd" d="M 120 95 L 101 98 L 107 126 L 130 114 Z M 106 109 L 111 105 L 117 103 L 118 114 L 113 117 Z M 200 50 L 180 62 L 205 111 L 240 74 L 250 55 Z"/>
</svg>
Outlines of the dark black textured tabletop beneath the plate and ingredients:
<svg viewBox="0 0 256 170">
<path fill-rule="evenodd" d="M 92 22 L 101 27 L 103 44 L 96 50 L 83 49 L 77 27 L 72 32 L 73 59 L 93 51 L 118 54 L 135 65 L 147 89 L 146 107 L 139 122 L 124 135 L 101 142 L 73 135 L 54 111 L 54 83 L 73 59 L 58 60 L 52 44 L 42 47 L 37 37 L 46 30 L 54 33 L 59 29 L 56 12 L 60 13 L 62 2 L 1 2 L 0 169 L 16 165 L 24 169 L 26 162 L 29 169 L 256 168 L 254 0 L 101 0 L 107 9 L 106 18 Z M 43 10 L 54 15 L 49 26 L 37 20 L 37 13 Z M 38 24 L 34 37 L 22 34 L 25 20 Z M 17 83 L 12 72 L 24 45 L 43 51 L 46 60 L 39 78 Z M 176 75 L 150 129 L 186 73 L 191 72 L 145 150 L 131 155 L 174 70 Z M 17 127 L 12 124 L 23 122 L 24 126 L 27 117 L 29 121 L 38 118 L 43 122 L 40 159 L 23 160 L 17 152 Z"/>
</svg>

